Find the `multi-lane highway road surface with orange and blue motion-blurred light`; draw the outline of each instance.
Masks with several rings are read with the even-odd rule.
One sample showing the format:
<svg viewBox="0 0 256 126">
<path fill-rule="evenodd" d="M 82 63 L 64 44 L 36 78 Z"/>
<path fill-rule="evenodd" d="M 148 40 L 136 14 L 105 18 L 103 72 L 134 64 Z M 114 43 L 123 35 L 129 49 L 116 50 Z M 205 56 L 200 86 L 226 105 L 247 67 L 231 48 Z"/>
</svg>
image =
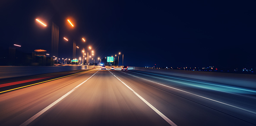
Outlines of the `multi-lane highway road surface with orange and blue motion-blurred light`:
<svg viewBox="0 0 256 126">
<path fill-rule="evenodd" d="M 256 125 L 253 90 L 211 82 L 109 67 L 0 82 L 1 126 Z"/>
</svg>

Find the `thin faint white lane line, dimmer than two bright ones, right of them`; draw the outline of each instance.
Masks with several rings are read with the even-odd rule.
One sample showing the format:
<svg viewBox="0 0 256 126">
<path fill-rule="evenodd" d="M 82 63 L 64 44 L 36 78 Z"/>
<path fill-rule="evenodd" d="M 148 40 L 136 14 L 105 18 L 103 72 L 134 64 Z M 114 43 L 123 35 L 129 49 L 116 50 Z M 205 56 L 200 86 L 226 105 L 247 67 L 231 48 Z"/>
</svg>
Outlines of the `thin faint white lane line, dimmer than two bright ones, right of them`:
<svg viewBox="0 0 256 126">
<path fill-rule="evenodd" d="M 123 72 L 123 73 L 125 73 L 125 72 Z M 130 75 L 130 76 L 133 76 L 133 75 L 131 75 L 131 74 L 129 74 L 129 73 L 125 73 L 125 74 L 128 74 L 128 75 Z M 137 77 L 137 76 L 134 76 L 134 77 Z M 140 77 L 137 77 L 137 78 L 140 78 Z M 143 78 L 140 78 L 140 79 L 143 79 Z M 150 81 L 150 80 L 147 80 L 147 79 L 144 79 L 144 80 L 149 81 L 149 82 L 153 82 L 153 81 Z M 158 82 L 153 82 L 153 83 L 156 83 L 156 84 L 158 84 L 158 85 L 163 85 L 163 84 L 160 84 L 160 83 L 158 83 Z M 168 88 L 173 88 L 173 87 L 170 87 L 170 86 L 167 86 L 167 85 L 163 85 L 163 86 L 168 87 Z M 178 90 L 178 91 L 182 91 L 182 92 L 186 92 L 186 93 L 188 93 L 188 94 L 193 94 L 193 93 L 190 93 L 190 92 L 187 92 L 187 91 L 183 91 L 183 90 L 180 90 L 180 89 L 177 89 L 177 88 L 173 88 L 173 89 Z M 205 98 L 205 99 L 208 99 L 208 100 L 211 100 L 211 101 L 215 101 L 215 102 L 218 102 L 218 103 L 221 103 L 221 104 L 225 104 L 225 105 L 228 105 L 228 106 L 230 106 L 230 107 L 234 107 L 234 108 L 237 108 L 237 109 L 240 109 L 240 110 L 244 110 L 244 111 L 247 111 L 247 112 L 256 114 L 256 112 L 253 112 L 253 111 L 250 111 L 250 110 L 246 110 L 246 109 L 243 109 L 243 108 L 240 108 L 240 107 L 236 107 L 236 106 L 231 105 L 231 104 L 227 104 L 227 103 L 224 103 L 224 102 L 221 102 L 221 101 L 216 101 L 216 100 L 213 100 L 213 99 L 211 99 L 211 98 L 206 98 L 206 97 L 203 97 L 203 96 L 200 96 L 200 95 L 197 95 L 197 94 L 193 94 L 193 95 L 198 96 L 198 97 L 201 97 L 201 98 Z"/>
</svg>

